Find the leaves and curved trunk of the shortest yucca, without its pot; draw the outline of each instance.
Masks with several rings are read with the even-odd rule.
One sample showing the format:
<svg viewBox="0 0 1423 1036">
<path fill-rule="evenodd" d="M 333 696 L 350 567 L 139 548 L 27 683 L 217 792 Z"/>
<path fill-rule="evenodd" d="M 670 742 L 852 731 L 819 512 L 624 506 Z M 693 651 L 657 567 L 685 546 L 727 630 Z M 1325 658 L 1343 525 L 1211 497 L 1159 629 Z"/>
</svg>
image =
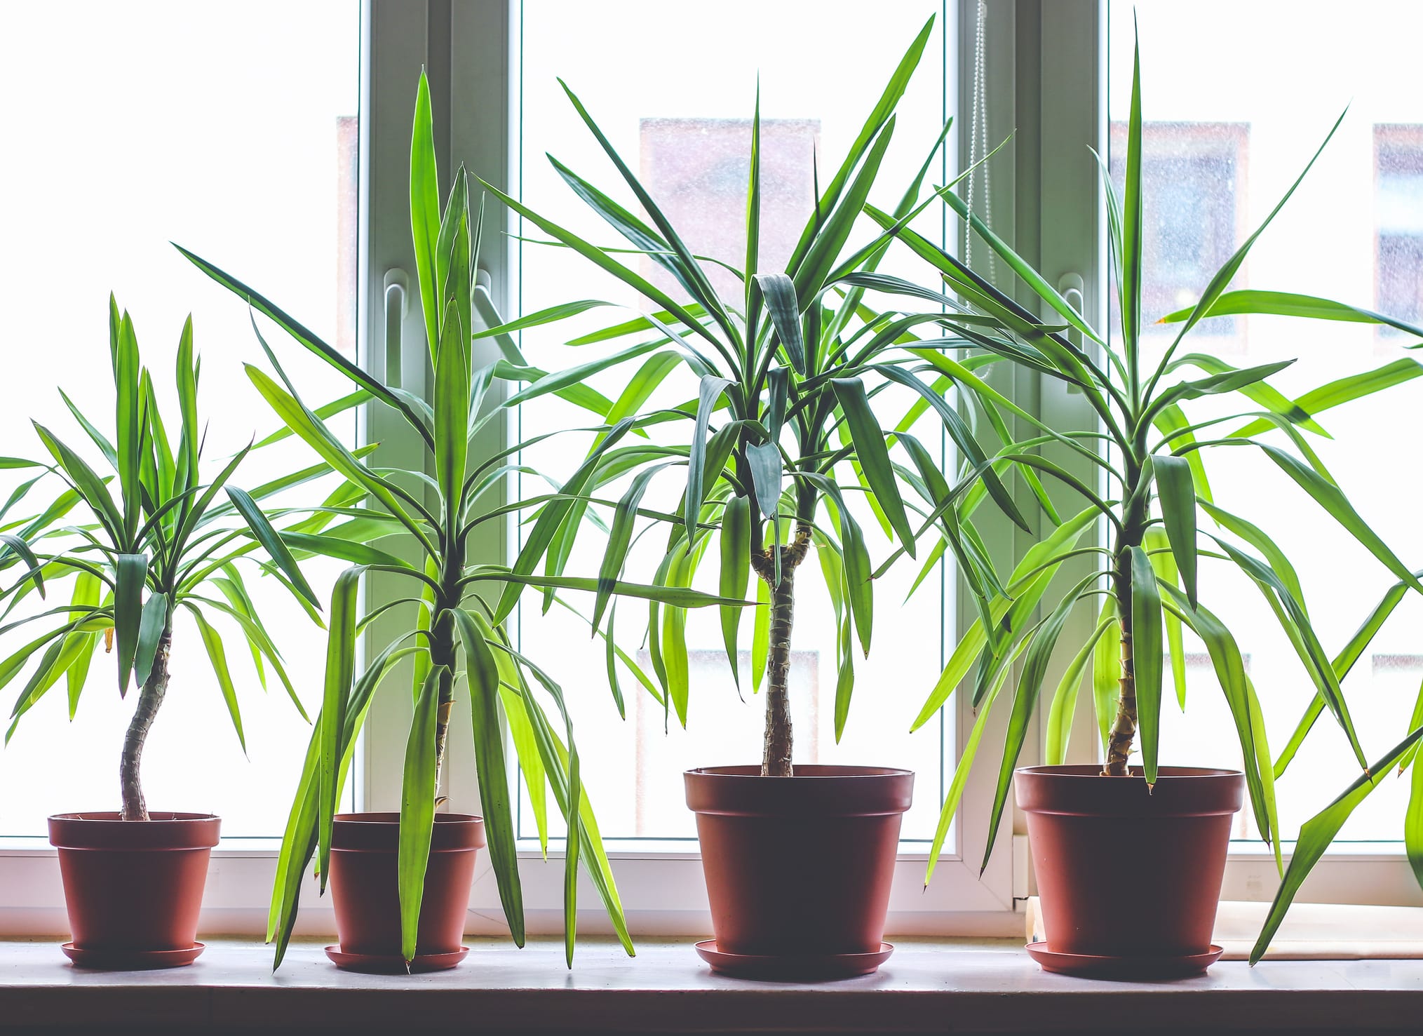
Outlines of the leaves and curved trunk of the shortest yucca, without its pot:
<svg viewBox="0 0 1423 1036">
<path fill-rule="evenodd" d="M 329 524 L 334 512 L 312 512 L 285 534 L 277 534 L 258 501 L 326 474 L 327 468 L 320 465 L 299 471 L 246 492 L 231 478 L 253 450 L 252 444 L 226 460 L 211 481 L 202 481 L 199 465 L 205 426 L 198 416 L 201 360 L 194 350 L 192 317 L 184 324 L 178 343 L 178 420 L 174 423 L 164 421 L 154 379 L 141 363 L 134 322 L 127 310 L 120 312 L 112 296 L 110 356 L 114 438 L 95 427 L 63 390 L 60 394 L 111 474 L 98 474 L 78 450 L 38 423 L 34 424 L 36 433 L 53 461 L 44 465 L 9 462 L 11 467 L 44 467 L 47 471 L 17 487 L 6 511 L 24 500 L 50 472 L 65 488 L 41 514 L 11 519 L 0 534 L 4 542 L 0 569 L 20 569 L 16 581 L 4 588 L 4 616 L 11 615 L 31 592 L 46 596 L 46 586 L 61 578 L 73 575 L 74 589 L 70 603 L 0 626 L 0 633 L 9 633 L 31 622 L 57 623 L 0 663 L 0 686 L 16 679 L 38 657 L 11 709 L 6 733 L 9 743 L 20 719 L 60 679 L 65 679 L 68 686 L 73 719 L 80 694 L 91 682 L 90 665 L 98 645 L 102 642 L 105 649 L 114 650 L 118 693 L 125 694 L 129 682 L 139 687 L 120 763 L 121 815 L 142 821 L 148 820 L 148 808 L 139 766 L 144 743 L 168 692 L 168 662 L 179 609 L 189 612 L 198 626 L 243 750 L 246 741 L 236 684 L 213 619 L 236 623 L 263 686 L 265 666 L 270 666 L 297 712 L 306 717 L 282 656 L 248 593 L 238 562 L 253 562 L 275 576 L 319 622 L 312 610 L 317 598 L 282 535 L 299 541 L 302 535 Z M 176 443 L 168 437 L 169 427 L 176 430 Z M 223 492 L 225 498 L 219 500 Z M 88 514 L 71 517 L 77 507 Z"/>
</svg>

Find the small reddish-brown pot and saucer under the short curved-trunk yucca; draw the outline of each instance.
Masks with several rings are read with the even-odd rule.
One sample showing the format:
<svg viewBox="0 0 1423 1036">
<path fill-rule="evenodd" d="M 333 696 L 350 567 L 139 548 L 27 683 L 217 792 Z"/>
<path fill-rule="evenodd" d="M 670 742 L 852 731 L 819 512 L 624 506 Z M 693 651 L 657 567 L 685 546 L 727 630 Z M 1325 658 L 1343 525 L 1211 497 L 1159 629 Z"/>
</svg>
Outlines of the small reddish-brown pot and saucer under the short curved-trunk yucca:
<svg viewBox="0 0 1423 1036">
<path fill-rule="evenodd" d="M 171 968 L 202 952 L 198 912 L 222 821 L 201 813 L 50 817 L 73 942 L 87 968 Z"/>
</svg>

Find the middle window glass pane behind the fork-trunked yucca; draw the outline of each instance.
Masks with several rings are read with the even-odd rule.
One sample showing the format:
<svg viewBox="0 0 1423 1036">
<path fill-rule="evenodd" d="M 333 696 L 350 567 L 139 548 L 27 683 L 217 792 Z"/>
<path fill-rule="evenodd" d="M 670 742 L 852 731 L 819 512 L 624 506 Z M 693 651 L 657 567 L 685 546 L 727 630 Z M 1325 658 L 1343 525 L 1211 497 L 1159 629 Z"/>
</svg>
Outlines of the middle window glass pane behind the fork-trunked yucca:
<svg viewBox="0 0 1423 1036">
<path fill-rule="evenodd" d="M 524 201 L 536 212 L 599 245 L 626 245 L 582 202 L 545 158 L 551 152 L 581 176 L 592 181 L 622 205 L 638 202 L 616 169 L 569 105 L 555 77 L 578 92 L 619 154 L 700 255 L 741 268 L 746 250 L 746 185 L 756 104 L 757 74 L 761 91 L 761 239 L 760 268 L 781 270 L 814 212 L 815 162 L 821 184 L 834 174 L 855 134 L 884 90 L 894 67 L 931 14 L 939 21 L 919 71 L 899 105 L 894 142 L 871 192 L 871 202 L 894 208 L 925 161 L 946 118 L 942 3 L 884 6 L 864 18 L 859 4 L 748 3 L 731 0 L 714 9 L 639 0 L 619 6 L 618 50 L 625 58 L 589 48 L 586 41 L 609 31 L 608 9 L 559 0 L 525 0 L 522 4 L 522 73 L 519 80 L 518 176 Z M 854 26 L 847 33 L 847 26 Z M 673 50 L 673 64 L 642 57 Z M 794 41 L 794 43 L 791 43 Z M 642 57 L 638 57 L 642 56 Z M 945 182 L 952 157 L 941 152 L 926 188 Z M 851 248 L 872 235 L 862 221 Z M 922 221 L 922 233 L 942 240 L 939 212 Z M 541 238 L 525 223 L 522 233 Z M 519 270 L 517 306 L 532 313 L 572 299 L 606 299 L 630 310 L 649 306 L 619 282 L 595 270 L 565 249 L 534 240 L 515 246 Z M 639 272 L 676 297 L 684 292 L 646 256 L 635 260 Z M 905 250 L 889 258 L 881 272 L 922 278 L 924 266 Z M 723 297 L 737 297 L 740 282 L 710 266 L 710 279 Z M 872 300 L 882 302 L 882 300 Z M 633 316 L 628 309 L 599 309 L 579 323 L 524 333 L 522 347 L 531 363 L 559 369 L 610 352 L 606 344 L 568 347 L 576 333 L 595 330 Z M 612 347 L 633 344 L 623 339 Z M 616 396 L 626 370 L 613 377 L 593 377 L 589 384 Z M 696 398 L 696 379 L 679 367 L 657 388 L 647 406 L 682 406 Z M 559 401 L 538 400 L 525 406 L 517 434 L 529 438 L 556 428 L 596 423 L 586 411 Z M 911 400 L 885 394 L 885 414 L 898 407 L 902 416 Z M 676 441 L 684 426 L 652 434 Z M 921 441 L 941 450 L 932 420 L 915 427 Z M 564 435 L 525 453 L 524 462 L 565 478 L 592 443 L 591 434 Z M 653 481 L 645 508 L 672 511 L 684 485 L 684 470 L 673 468 Z M 613 482 L 599 495 L 616 500 L 628 480 Z M 538 492 L 539 481 L 525 477 L 522 492 Z M 889 541 L 878 521 L 859 501 L 854 507 L 869 536 L 877 564 L 889 554 Z M 599 508 L 599 517 L 610 517 Z M 824 521 L 824 511 L 820 518 Z M 517 534 L 515 534 L 517 535 Z M 628 561 L 629 579 L 650 582 L 662 556 L 666 527 L 649 532 Z M 928 539 L 924 541 L 928 551 Z M 572 548 L 568 572 L 596 575 L 605 536 L 592 524 Z M 714 548 L 713 548 L 714 551 Z M 714 561 L 714 554 L 710 559 Z M 906 838 L 933 835 L 942 794 L 941 747 L 952 744 L 952 722 L 931 722 L 909 736 L 909 723 L 943 663 L 945 630 L 952 632 L 952 574 L 931 568 L 911 603 L 901 606 L 922 564 L 904 561 L 877 581 L 874 650 L 868 662 L 855 659 L 855 694 L 850 722 L 840 744 L 834 737 L 835 632 L 831 602 L 814 561 L 797 579 L 797 615 L 793 639 L 791 702 L 795 723 L 797 763 L 891 764 L 918 773 L 915 807 L 906 815 Z M 716 589 L 714 565 L 699 574 L 697 586 Z M 707 581 L 710 576 L 710 581 Z M 948 596 L 948 605 L 945 595 Z M 571 596 L 569 605 L 591 612 L 591 599 Z M 569 692 L 583 750 L 585 780 L 598 805 L 603 835 L 610 840 L 692 838 L 693 815 L 683 801 L 682 770 L 693 766 L 754 763 L 760 760 L 763 699 L 751 693 L 751 616 L 741 625 L 741 697 L 731 680 L 714 609 L 689 615 L 689 669 L 692 694 L 687 729 L 670 722 L 663 707 L 619 672 L 628 700 L 626 720 L 619 720 L 605 675 L 603 642 L 589 636 L 583 619 L 554 605 L 538 618 L 535 593 L 524 598 L 527 650 Z M 643 643 L 646 605 L 628 601 L 616 613 L 618 642 L 650 673 Z M 744 697 L 744 700 L 743 700 Z M 952 758 L 948 760 L 952 767 Z M 525 805 L 521 834 L 532 837 L 534 823 Z M 616 845 L 616 842 L 615 842 Z M 623 847 L 626 848 L 626 845 Z"/>
</svg>

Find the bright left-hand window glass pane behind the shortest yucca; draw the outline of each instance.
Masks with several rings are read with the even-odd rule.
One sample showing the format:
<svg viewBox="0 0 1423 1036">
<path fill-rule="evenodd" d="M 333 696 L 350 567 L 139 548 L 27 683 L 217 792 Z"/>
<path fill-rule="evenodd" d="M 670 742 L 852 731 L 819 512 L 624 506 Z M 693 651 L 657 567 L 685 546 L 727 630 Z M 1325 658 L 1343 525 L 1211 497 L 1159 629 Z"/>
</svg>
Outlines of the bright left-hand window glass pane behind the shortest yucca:
<svg viewBox="0 0 1423 1036">
<path fill-rule="evenodd" d="M 253 433 L 277 427 L 242 370 L 265 363 L 246 307 L 169 240 L 248 283 L 280 286 L 289 312 L 354 353 L 359 87 L 356 0 L 0 6 L 9 343 L 0 453 L 43 454 L 31 417 L 87 445 L 57 386 L 112 434 L 110 290 L 132 313 L 165 414 L 176 407 L 174 357 L 192 313 L 206 477 Z M 283 357 L 313 404 L 346 390 L 314 359 Z M 233 484 L 250 490 L 314 462 L 289 445 L 249 457 Z M 102 465 L 97 451 L 85 455 Z M 303 568 L 324 599 L 340 564 Z M 314 714 L 324 636 L 270 578 L 253 568 L 245 578 Z M 238 628 L 215 625 L 246 757 L 198 630 L 179 615 L 168 696 L 144 753 L 148 804 L 218 813 L 228 837 L 280 837 L 310 729 L 270 669 L 262 690 Z M 4 639 L 6 655 L 24 630 Z M 118 808 L 120 744 L 135 694 L 121 702 L 112 672 L 112 656 L 98 655 L 73 722 L 63 683 L 24 717 L 0 754 L 0 835 L 43 834 L 50 813 Z"/>
</svg>

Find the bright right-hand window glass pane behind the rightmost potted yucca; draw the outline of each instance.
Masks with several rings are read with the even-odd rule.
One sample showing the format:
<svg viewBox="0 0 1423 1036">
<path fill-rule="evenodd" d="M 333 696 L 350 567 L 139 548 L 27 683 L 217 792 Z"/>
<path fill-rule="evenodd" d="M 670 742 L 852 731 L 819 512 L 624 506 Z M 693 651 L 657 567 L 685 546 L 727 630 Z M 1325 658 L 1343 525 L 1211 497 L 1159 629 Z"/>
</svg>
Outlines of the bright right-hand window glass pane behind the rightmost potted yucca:
<svg viewBox="0 0 1423 1036">
<path fill-rule="evenodd" d="M 1355 4 L 1340 17 L 1336 4 L 1298 3 L 1285 24 L 1278 4 L 1113 3 L 1111 169 L 1118 182 L 1133 11 L 1141 30 L 1146 120 L 1148 356 L 1160 357 L 1175 332 L 1154 322 L 1200 297 L 1205 279 L 1266 218 L 1346 104 L 1335 139 L 1232 287 L 1319 295 L 1405 320 L 1423 314 L 1423 95 L 1409 71 L 1423 9 L 1379 0 Z M 1272 379 L 1298 397 L 1410 356 L 1405 346 L 1413 342 L 1366 324 L 1248 316 L 1205 322 L 1181 352 L 1212 353 L 1235 366 L 1298 357 Z M 1238 410 L 1238 400 L 1195 401 L 1191 420 Z M 1416 478 L 1400 477 L 1397 464 L 1399 444 L 1410 441 L 1420 406 L 1423 383 L 1410 381 L 1329 410 L 1319 421 L 1333 438 L 1309 437 L 1359 512 L 1410 564 L 1419 556 L 1423 491 Z M 1281 433 L 1266 435 L 1272 440 L 1288 445 Z M 1259 453 L 1214 451 L 1208 470 L 1217 502 L 1264 528 L 1295 564 L 1323 646 L 1331 656 L 1339 652 L 1393 576 Z M 1204 562 L 1201 601 L 1239 636 L 1278 754 L 1313 694 L 1309 677 L 1264 598 L 1234 566 Z M 1420 602 L 1409 595 L 1343 682 L 1369 758 L 1407 733 L 1423 675 L 1416 653 L 1420 618 Z M 1165 709 L 1163 761 L 1238 766 L 1225 702 L 1204 646 L 1190 635 L 1185 662 L 1187 714 Z M 1278 784 L 1286 835 L 1358 774 L 1343 731 L 1328 714 L 1321 717 Z M 1406 781 L 1386 780 L 1340 838 L 1402 838 L 1406 800 Z M 1238 837 L 1257 837 L 1249 810 L 1238 817 Z"/>
</svg>

